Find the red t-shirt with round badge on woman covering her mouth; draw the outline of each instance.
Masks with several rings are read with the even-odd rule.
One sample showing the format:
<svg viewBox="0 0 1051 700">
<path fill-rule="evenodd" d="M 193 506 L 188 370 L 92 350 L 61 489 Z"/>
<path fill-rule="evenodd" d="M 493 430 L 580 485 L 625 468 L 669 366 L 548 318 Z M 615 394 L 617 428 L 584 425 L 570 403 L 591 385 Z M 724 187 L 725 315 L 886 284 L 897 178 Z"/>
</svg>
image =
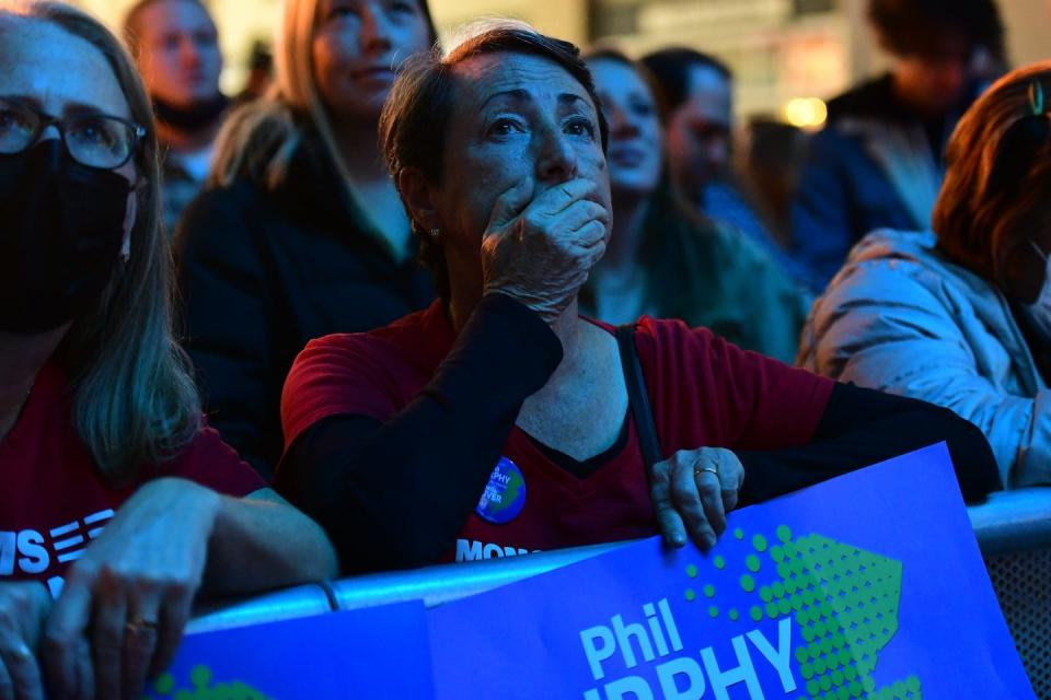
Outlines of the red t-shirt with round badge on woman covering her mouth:
<svg viewBox="0 0 1051 700">
<path fill-rule="evenodd" d="M 613 332 L 609 325 L 592 323 Z M 832 392 L 828 378 L 742 351 L 681 322 L 643 317 L 636 338 L 666 457 L 701 446 L 765 450 L 806 444 Z M 286 448 L 331 416 L 391 419 L 431 380 L 454 339 L 441 303 L 435 302 L 385 328 L 311 341 L 285 385 Z M 448 558 L 489 559 L 656 534 L 634 421 L 623 448 L 607 457 L 580 479 L 512 429 L 489 481 L 497 488 L 487 488 L 480 502 L 488 517 L 472 513 Z M 512 488 L 501 489 L 498 480 L 511 481 Z M 503 511 L 485 504 L 501 498 L 511 501 Z"/>
</svg>

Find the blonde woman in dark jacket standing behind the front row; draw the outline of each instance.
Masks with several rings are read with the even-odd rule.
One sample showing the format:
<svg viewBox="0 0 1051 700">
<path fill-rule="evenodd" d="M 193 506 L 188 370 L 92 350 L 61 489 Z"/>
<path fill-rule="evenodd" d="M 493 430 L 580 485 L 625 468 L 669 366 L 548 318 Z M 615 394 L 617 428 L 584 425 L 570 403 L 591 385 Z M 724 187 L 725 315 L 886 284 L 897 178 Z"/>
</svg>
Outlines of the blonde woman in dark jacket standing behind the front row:
<svg viewBox="0 0 1051 700">
<path fill-rule="evenodd" d="M 425 0 L 344 5 L 286 0 L 277 86 L 231 115 L 177 232 L 209 419 L 266 478 L 281 454 L 281 387 L 307 341 L 434 299 L 376 136 L 400 61 L 434 43 L 434 24 Z"/>
</svg>

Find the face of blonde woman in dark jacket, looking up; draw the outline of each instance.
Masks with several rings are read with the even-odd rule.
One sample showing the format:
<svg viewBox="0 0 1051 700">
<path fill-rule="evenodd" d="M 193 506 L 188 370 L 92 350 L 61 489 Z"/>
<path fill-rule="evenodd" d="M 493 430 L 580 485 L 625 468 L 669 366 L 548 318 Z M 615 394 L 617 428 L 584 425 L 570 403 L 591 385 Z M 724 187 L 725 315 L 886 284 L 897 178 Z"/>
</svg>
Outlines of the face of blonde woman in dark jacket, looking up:
<svg viewBox="0 0 1051 700">
<path fill-rule="evenodd" d="M 317 91 L 333 116 L 376 121 L 399 67 L 431 43 L 419 0 L 320 0 Z"/>
</svg>

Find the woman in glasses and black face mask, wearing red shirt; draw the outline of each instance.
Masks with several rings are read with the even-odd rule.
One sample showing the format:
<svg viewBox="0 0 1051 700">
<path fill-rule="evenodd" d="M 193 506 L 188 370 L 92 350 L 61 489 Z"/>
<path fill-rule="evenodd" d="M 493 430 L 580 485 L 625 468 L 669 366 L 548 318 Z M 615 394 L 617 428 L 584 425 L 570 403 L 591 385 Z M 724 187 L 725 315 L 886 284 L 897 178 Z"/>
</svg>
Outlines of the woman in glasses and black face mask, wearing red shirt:
<svg viewBox="0 0 1051 700">
<path fill-rule="evenodd" d="M 130 58 L 79 10 L 0 0 L 0 697 L 141 697 L 198 594 L 335 556 L 203 425 Z"/>
</svg>

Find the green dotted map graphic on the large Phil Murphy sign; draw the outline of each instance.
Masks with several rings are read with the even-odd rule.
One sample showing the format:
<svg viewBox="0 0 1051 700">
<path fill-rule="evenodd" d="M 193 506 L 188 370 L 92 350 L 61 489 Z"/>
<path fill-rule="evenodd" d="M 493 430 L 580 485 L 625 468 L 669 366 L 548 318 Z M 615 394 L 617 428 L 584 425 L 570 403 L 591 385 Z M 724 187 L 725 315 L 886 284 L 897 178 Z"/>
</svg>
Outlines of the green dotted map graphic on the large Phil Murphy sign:
<svg viewBox="0 0 1051 700">
<path fill-rule="evenodd" d="M 734 536 L 744 539 L 740 528 Z M 724 612 L 712 583 L 688 587 L 685 599 L 707 600 L 704 614 L 712 618 L 725 614 L 737 621 L 747 615 L 758 622 L 793 617 L 802 637 L 793 650 L 806 682 L 807 695 L 799 700 L 922 699 L 916 676 L 879 689 L 871 676 L 879 652 L 898 631 L 901 562 L 821 535 L 794 538 L 786 525 L 777 528 L 773 545 L 763 535 L 753 536 L 751 545 L 754 553 L 744 558 L 747 573 L 737 584 L 755 596 L 755 605 Z M 713 562 L 717 570 L 727 567 L 723 557 Z M 686 567 L 686 575 L 697 579 L 697 568 Z"/>
</svg>

